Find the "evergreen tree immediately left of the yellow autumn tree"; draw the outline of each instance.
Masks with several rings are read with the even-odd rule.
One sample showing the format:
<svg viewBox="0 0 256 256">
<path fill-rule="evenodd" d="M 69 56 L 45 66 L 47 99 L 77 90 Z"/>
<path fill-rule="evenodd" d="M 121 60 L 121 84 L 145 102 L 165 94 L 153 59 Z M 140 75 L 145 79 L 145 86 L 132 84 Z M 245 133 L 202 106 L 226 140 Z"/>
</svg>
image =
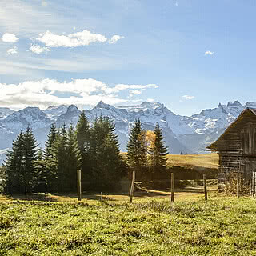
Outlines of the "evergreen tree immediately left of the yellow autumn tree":
<svg viewBox="0 0 256 256">
<path fill-rule="evenodd" d="M 134 170 L 142 170 L 146 167 L 146 140 L 139 119 L 134 122 L 126 148 L 128 166 Z"/>
</svg>

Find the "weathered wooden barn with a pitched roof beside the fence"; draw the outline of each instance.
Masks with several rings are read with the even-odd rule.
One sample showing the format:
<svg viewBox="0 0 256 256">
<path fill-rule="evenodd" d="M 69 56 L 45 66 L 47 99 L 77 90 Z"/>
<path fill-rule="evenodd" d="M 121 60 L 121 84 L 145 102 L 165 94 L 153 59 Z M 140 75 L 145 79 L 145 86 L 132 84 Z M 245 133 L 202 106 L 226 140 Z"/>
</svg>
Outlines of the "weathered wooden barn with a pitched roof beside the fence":
<svg viewBox="0 0 256 256">
<path fill-rule="evenodd" d="M 225 184 L 230 173 L 240 173 L 251 182 L 256 172 L 256 109 L 246 108 L 216 142 L 207 146 L 218 153 L 218 184 Z"/>
</svg>

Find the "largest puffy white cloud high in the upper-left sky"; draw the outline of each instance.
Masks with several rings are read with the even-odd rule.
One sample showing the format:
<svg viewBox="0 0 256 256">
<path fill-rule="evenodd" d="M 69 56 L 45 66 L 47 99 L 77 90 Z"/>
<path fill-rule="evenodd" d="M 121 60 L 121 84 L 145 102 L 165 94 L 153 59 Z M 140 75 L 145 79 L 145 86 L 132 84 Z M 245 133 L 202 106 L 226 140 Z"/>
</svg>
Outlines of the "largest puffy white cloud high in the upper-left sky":
<svg viewBox="0 0 256 256">
<path fill-rule="evenodd" d="M 107 39 L 102 34 L 93 34 L 89 30 L 83 30 L 68 35 L 58 35 L 46 31 L 39 34 L 37 40 L 49 47 L 78 47 L 88 46 L 92 42 L 106 42 Z"/>
</svg>

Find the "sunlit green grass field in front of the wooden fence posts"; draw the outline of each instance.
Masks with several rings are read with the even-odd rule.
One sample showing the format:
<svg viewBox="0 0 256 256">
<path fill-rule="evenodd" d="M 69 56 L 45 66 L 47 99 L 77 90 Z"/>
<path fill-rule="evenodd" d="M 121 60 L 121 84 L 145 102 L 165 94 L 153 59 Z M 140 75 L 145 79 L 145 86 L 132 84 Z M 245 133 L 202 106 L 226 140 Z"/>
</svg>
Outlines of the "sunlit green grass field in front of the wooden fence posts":
<svg viewBox="0 0 256 256">
<path fill-rule="evenodd" d="M 256 255 L 256 201 L 0 202 L 0 255 Z"/>
</svg>

